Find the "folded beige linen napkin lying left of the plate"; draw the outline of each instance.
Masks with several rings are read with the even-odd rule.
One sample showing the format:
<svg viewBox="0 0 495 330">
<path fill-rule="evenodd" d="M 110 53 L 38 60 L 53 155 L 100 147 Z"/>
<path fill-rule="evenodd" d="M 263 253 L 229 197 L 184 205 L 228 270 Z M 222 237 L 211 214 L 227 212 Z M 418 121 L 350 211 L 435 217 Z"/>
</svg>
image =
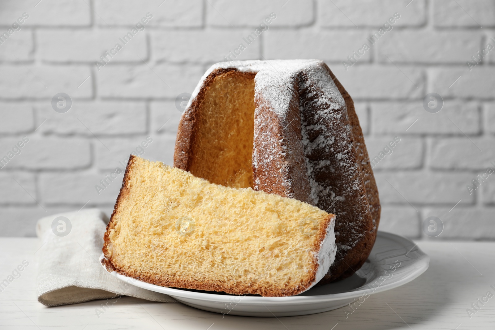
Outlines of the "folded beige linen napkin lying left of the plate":
<svg viewBox="0 0 495 330">
<path fill-rule="evenodd" d="M 68 219 L 68 220 L 67 220 Z M 170 296 L 125 283 L 99 262 L 108 218 L 99 209 L 51 215 L 38 220 L 38 301 L 47 306 L 128 295 L 160 302 Z"/>
</svg>

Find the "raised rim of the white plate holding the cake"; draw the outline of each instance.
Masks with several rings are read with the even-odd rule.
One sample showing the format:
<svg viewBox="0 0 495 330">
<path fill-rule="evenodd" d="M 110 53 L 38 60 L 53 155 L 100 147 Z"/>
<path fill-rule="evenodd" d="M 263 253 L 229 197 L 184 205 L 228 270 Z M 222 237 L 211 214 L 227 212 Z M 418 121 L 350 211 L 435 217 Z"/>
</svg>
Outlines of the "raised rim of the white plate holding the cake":
<svg viewBox="0 0 495 330">
<path fill-rule="evenodd" d="M 346 291 L 340 293 L 329 293 L 329 294 L 309 295 L 309 296 L 295 295 L 295 296 L 287 296 L 287 297 L 260 297 L 260 296 L 242 296 L 242 295 L 230 295 L 230 294 L 219 294 L 219 293 L 205 293 L 205 292 L 188 291 L 179 288 L 159 286 L 159 285 L 139 281 L 134 278 L 121 275 L 116 271 L 108 272 L 103 264 L 101 264 L 101 266 L 105 269 L 105 272 L 110 273 L 110 275 L 116 277 L 121 281 L 124 281 L 126 283 L 150 291 L 167 294 L 173 298 L 177 297 L 179 299 L 193 299 L 193 300 L 202 300 L 209 302 L 215 301 L 218 303 L 224 303 L 224 302 L 232 302 L 233 298 L 241 297 L 240 299 L 242 300 L 243 305 L 260 305 L 260 304 L 293 305 L 293 304 L 319 303 L 325 301 L 336 301 L 342 299 L 358 298 L 362 296 L 365 292 L 369 294 L 374 294 L 378 292 L 387 291 L 415 280 L 428 269 L 430 263 L 430 257 L 417 246 L 417 243 L 414 243 L 412 240 L 406 237 L 384 231 L 378 231 L 377 239 L 379 236 L 384 236 L 384 238 L 388 238 L 392 240 L 398 239 L 402 241 L 407 241 L 414 245 L 409 252 L 411 252 L 412 249 L 416 248 L 414 252 L 417 252 L 420 255 L 414 258 L 415 259 L 414 265 L 416 265 L 416 268 L 410 274 L 407 274 L 404 278 L 401 278 L 398 281 L 380 285 L 374 288 L 374 290 L 371 288 L 362 288 L 359 290 L 352 290 L 352 291 Z M 105 259 L 103 253 L 101 253 L 99 257 L 99 260 L 101 259 Z M 240 303 L 240 301 L 238 303 Z"/>
</svg>

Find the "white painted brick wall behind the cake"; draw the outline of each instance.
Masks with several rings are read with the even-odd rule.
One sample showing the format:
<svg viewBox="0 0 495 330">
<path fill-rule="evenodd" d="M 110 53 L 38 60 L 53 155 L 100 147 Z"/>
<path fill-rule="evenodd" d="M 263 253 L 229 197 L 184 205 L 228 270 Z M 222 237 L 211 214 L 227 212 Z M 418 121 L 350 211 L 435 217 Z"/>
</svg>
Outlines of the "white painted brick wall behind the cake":
<svg viewBox="0 0 495 330">
<path fill-rule="evenodd" d="M 98 69 L 148 12 L 144 30 Z M 1 1 L 0 34 L 29 18 L 0 45 L 0 158 L 29 142 L 0 169 L 0 236 L 33 236 L 37 218 L 85 203 L 110 213 L 122 174 L 95 186 L 148 136 L 138 150 L 171 164 L 176 96 L 272 12 L 238 59 L 325 60 L 356 101 L 370 157 L 400 138 L 374 168 L 380 228 L 429 238 L 421 224 L 437 216 L 445 230 L 436 239 L 495 239 L 495 176 L 466 188 L 495 169 L 495 50 L 466 64 L 494 44 L 494 0 Z M 434 114 L 422 103 L 431 92 L 445 101 Z M 72 98 L 67 113 L 52 109 L 57 93 Z"/>
</svg>

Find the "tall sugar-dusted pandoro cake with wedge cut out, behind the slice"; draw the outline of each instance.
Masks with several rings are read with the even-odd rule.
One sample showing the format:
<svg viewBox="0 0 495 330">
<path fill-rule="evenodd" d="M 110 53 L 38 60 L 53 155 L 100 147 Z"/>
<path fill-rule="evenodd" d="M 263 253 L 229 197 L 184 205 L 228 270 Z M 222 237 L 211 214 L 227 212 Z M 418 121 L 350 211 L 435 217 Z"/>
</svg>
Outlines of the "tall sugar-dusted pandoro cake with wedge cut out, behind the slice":
<svg viewBox="0 0 495 330">
<path fill-rule="evenodd" d="M 321 284 L 352 275 L 375 242 L 380 202 L 359 120 L 322 61 L 214 64 L 181 118 L 174 166 L 336 214 L 337 256 Z"/>
</svg>

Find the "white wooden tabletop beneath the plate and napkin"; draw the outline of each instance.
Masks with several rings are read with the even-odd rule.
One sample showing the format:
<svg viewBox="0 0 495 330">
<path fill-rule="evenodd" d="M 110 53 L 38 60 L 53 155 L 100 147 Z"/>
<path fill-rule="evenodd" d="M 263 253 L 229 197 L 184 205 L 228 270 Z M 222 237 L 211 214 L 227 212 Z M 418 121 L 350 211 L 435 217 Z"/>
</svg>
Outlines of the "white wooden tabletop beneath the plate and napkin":
<svg viewBox="0 0 495 330">
<path fill-rule="evenodd" d="M 22 261 L 29 265 L 0 292 L 0 329 L 495 329 L 495 242 L 421 241 L 430 268 L 411 283 L 366 299 L 348 316 L 344 309 L 284 318 L 229 316 L 180 303 L 122 297 L 97 315 L 101 300 L 46 307 L 35 292 L 36 238 L 0 238 L 0 282 Z M 486 300 L 486 299 L 485 299 Z M 471 304 L 480 307 L 469 317 Z M 334 327 L 334 328 L 333 328 Z"/>
</svg>

